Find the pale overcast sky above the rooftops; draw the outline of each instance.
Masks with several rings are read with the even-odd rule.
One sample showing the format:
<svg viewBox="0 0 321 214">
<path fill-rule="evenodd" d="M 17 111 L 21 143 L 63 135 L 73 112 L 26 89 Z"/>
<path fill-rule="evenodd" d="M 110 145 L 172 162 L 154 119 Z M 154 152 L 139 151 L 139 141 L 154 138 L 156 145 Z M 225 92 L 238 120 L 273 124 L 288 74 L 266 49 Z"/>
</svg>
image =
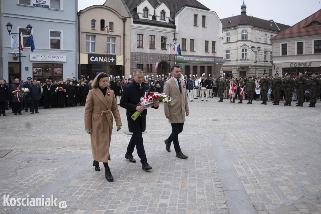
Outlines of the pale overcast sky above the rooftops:
<svg viewBox="0 0 321 214">
<path fill-rule="evenodd" d="M 78 0 L 78 10 L 95 4 L 104 4 L 106 0 Z M 114 0 L 115 1 L 115 0 Z M 121 2 L 120 0 L 118 0 Z M 143 0 L 142 0 L 143 1 Z M 173 0 L 175 1 L 175 0 Z M 241 14 L 243 0 L 198 0 L 211 11 L 215 11 L 220 19 Z M 321 8 L 321 0 L 244 0 L 247 15 L 275 22 L 294 25 Z"/>
</svg>

